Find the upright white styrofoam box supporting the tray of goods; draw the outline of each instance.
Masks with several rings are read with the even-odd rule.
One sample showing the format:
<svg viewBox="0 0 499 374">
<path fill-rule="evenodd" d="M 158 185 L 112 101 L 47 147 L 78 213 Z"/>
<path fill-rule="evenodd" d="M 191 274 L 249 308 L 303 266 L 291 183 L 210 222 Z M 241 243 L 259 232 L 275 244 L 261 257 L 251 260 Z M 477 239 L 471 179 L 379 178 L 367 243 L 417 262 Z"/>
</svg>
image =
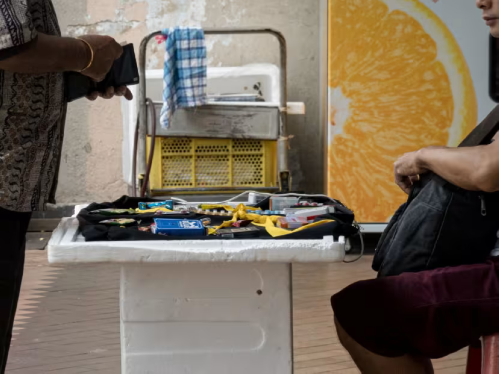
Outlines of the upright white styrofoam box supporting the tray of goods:
<svg viewBox="0 0 499 374">
<path fill-rule="evenodd" d="M 287 264 L 125 265 L 125 374 L 291 374 Z"/>
</svg>

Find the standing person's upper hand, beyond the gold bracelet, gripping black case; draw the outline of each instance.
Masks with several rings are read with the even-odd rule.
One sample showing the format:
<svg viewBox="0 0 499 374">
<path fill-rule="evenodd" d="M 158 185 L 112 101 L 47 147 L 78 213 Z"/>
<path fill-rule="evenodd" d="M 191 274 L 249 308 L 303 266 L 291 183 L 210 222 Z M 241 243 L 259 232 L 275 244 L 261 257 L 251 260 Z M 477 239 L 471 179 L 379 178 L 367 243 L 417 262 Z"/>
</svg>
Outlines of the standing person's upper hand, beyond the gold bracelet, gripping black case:
<svg viewBox="0 0 499 374">
<path fill-rule="evenodd" d="M 83 70 L 81 73 L 83 75 L 89 76 L 96 82 L 100 82 L 106 77 L 106 74 L 111 70 L 113 62 L 118 59 L 123 53 L 123 47 L 118 44 L 110 36 L 103 35 L 84 35 L 80 39 L 85 40 L 92 47 L 94 53 L 94 59 L 90 67 Z M 84 41 L 80 40 L 80 43 Z M 88 49 L 88 45 L 85 44 Z M 88 50 L 87 63 L 90 61 L 91 52 Z M 85 66 L 82 66 L 83 69 Z"/>
</svg>

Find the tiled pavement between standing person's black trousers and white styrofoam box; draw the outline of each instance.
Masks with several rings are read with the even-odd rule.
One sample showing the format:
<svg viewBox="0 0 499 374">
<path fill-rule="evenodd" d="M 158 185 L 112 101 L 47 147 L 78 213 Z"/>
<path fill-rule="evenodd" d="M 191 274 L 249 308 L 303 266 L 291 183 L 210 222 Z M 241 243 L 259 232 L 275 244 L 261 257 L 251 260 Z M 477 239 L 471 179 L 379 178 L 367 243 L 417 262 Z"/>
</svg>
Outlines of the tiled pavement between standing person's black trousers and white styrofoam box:
<svg viewBox="0 0 499 374">
<path fill-rule="evenodd" d="M 26 254 L 7 374 L 119 374 L 119 269 Z"/>
</svg>

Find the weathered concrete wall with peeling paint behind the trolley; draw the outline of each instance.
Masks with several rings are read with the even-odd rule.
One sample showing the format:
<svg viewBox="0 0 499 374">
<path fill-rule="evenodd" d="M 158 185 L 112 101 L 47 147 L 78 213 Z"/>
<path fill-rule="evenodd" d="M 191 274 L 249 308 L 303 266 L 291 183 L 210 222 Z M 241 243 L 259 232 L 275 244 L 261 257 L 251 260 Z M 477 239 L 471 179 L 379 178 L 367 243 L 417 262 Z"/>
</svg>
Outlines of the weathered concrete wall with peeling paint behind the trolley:
<svg viewBox="0 0 499 374">
<path fill-rule="evenodd" d="M 289 101 L 304 101 L 305 116 L 290 116 L 293 184 L 322 191 L 319 121 L 319 1 L 303 0 L 53 0 L 63 33 L 102 33 L 137 46 L 151 31 L 174 25 L 270 26 L 288 42 Z M 209 36 L 211 65 L 278 62 L 271 36 Z M 163 46 L 152 43 L 149 67 L 161 66 Z M 119 100 L 70 104 L 59 203 L 102 201 L 127 193 L 122 179 Z"/>
</svg>

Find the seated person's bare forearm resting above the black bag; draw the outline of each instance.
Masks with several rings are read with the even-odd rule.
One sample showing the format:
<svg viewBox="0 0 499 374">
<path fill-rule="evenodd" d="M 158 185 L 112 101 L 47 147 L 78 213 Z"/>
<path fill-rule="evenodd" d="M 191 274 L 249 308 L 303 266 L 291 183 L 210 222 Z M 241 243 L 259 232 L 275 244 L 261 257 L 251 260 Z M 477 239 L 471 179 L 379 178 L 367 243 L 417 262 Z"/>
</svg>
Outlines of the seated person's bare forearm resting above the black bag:
<svg viewBox="0 0 499 374">
<path fill-rule="evenodd" d="M 424 148 L 420 166 L 433 171 L 448 182 L 471 191 L 497 191 L 497 177 L 492 175 L 496 159 L 489 146 L 459 148 Z M 492 156 L 492 157 L 491 157 Z"/>
</svg>

